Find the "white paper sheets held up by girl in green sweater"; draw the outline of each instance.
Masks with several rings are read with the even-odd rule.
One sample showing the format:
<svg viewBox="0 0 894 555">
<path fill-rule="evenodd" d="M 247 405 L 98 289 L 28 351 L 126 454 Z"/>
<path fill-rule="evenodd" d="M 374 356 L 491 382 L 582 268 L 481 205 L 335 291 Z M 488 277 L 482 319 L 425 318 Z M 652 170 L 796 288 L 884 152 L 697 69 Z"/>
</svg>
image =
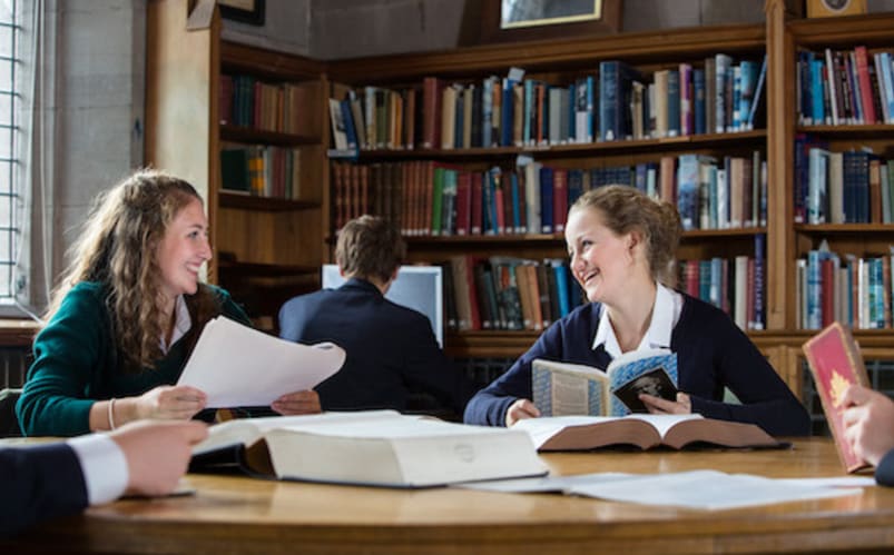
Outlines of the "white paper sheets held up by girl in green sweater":
<svg viewBox="0 0 894 555">
<path fill-rule="evenodd" d="M 337 345 L 302 345 L 217 317 L 205 325 L 177 385 L 205 392 L 210 408 L 268 406 L 313 388 L 344 359 Z"/>
</svg>

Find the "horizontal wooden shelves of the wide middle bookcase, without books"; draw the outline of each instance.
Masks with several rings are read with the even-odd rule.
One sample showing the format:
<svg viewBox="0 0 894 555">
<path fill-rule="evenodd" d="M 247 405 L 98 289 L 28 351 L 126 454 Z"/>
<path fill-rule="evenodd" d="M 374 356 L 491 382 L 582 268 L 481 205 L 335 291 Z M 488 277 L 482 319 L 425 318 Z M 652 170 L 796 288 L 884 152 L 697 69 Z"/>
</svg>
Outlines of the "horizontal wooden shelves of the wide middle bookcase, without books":
<svg viewBox="0 0 894 555">
<path fill-rule="evenodd" d="M 714 28 L 625 33 L 610 37 L 576 38 L 524 44 L 500 44 L 452 50 L 449 52 L 400 54 L 364 58 L 330 63 L 332 81 L 344 87 L 376 86 L 405 88 L 422 86 L 425 77 L 438 77 L 448 83 L 480 80 L 491 75 L 505 76 L 520 67 L 525 77 L 547 82 L 569 82 L 591 71 L 601 60 L 622 60 L 644 73 L 677 68 L 688 62 L 701 66 L 705 58 L 723 51 L 734 59 L 760 60 L 766 48 L 764 26 L 724 26 Z M 344 87 L 343 87 L 344 86 Z M 619 140 L 591 143 L 539 147 L 492 147 L 458 149 L 361 150 L 358 163 L 407 160 L 435 160 L 483 170 L 492 165 L 511 166 L 517 156 L 530 155 L 539 162 L 554 167 L 632 166 L 657 161 L 661 156 L 680 153 L 750 156 L 767 152 L 767 131 L 689 135 L 666 139 Z M 768 199 L 769 201 L 769 199 Z M 768 210 L 775 207 L 768 206 Z M 687 231 L 680 259 L 733 258 L 754 256 L 756 234 L 768 227 Z M 528 259 L 567 258 L 564 239 L 554 235 L 498 235 L 465 237 L 407 237 L 412 261 L 440 261 L 452 255 L 493 255 Z M 758 333 L 756 335 L 760 335 Z M 763 333 L 766 334 L 766 333 Z M 536 340 L 538 331 L 481 330 L 449 334 L 448 351 L 459 357 L 515 357 Z"/>
</svg>

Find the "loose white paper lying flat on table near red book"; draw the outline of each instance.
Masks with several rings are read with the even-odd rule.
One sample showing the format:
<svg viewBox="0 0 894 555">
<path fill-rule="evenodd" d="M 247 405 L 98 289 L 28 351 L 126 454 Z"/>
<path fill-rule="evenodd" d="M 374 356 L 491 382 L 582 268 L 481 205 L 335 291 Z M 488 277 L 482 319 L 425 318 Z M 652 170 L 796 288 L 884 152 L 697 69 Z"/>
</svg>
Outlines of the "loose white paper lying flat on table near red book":
<svg viewBox="0 0 894 555">
<path fill-rule="evenodd" d="M 600 499 L 708 511 L 841 497 L 862 492 L 859 488 L 821 487 L 717 470 L 641 475 L 630 479 L 579 484 L 566 489 L 569 494 Z"/>
</svg>

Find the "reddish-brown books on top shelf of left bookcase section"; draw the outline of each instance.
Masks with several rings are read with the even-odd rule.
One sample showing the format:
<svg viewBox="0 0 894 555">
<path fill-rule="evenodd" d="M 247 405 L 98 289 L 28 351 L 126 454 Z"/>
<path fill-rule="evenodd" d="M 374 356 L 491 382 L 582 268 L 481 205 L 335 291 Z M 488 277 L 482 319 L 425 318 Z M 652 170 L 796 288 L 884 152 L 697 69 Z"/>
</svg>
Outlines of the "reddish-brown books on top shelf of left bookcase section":
<svg viewBox="0 0 894 555">
<path fill-rule="evenodd" d="M 220 122 L 263 131 L 302 135 L 314 109 L 316 82 L 268 83 L 252 76 L 220 75 Z"/>
</svg>

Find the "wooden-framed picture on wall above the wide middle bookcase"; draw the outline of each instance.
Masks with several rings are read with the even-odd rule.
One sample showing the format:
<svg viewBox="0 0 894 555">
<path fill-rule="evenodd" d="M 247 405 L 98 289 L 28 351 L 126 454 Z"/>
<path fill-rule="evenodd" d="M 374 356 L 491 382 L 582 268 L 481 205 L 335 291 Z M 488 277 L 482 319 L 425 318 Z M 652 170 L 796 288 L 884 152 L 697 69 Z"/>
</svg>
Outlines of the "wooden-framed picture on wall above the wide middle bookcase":
<svg viewBox="0 0 894 555">
<path fill-rule="evenodd" d="M 620 0 L 484 0 L 482 42 L 618 32 Z"/>
</svg>

